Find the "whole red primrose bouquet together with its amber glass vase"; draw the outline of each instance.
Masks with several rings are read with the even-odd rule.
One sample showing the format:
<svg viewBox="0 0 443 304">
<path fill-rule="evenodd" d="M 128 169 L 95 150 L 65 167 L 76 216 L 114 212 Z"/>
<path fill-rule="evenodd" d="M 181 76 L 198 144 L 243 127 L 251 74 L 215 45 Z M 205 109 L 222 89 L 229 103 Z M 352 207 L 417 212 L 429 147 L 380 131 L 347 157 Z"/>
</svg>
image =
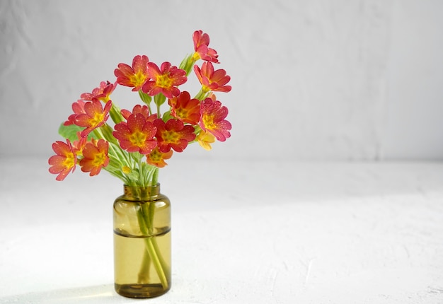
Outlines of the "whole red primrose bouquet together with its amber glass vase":
<svg viewBox="0 0 443 304">
<path fill-rule="evenodd" d="M 214 69 L 219 60 L 217 52 L 209 48 L 209 35 L 197 30 L 192 39 L 194 52 L 178 67 L 169 62 L 157 65 L 145 55 L 135 56 L 131 66 L 118 64 L 114 82 L 101 82 L 72 104 L 74 113 L 59 127 L 65 141 L 52 144 L 55 155 L 48 162 L 50 173 L 57 174 L 56 180 L 64 180 L 79 165 L 90 176 L 106 170 L 125 185 L 125 194 L 115 201 L 120 206 L 114 206 L 115 233 L 141 241 L 137 246 L 128 245 L 132 252 L 140 251 L 139 261 L 135 261 L 139 264 L 137 278 L 128 276 L 127 282 L 115 283 L 116 290 L 117 285 L 130 286 L 126 293 L 117 290 L 123 296 L 158 296 L 170 288 L 170 239 L 169 248 L 162 247 L 160 241 L 170 230 L 169 202 L 159 193 L 159 168 L 188 144 L 198 142 L 210 150 L 216 139 L 225 141 L 231 136 L 228 109 L 214 95 L 231 90 L 227 85 L 230 77 L 224 69 Z M 199 61 L 201 66 L 196 64 Z M 201 84 L 193 98 L 180 87 L 188 81 L 191 70 Z M 117 86 L 132 88 L 141 103 L 132 110 L 120 110 L 111 100 Z M 134 201 L 137 204 L 132 204 Z M 130 255 L 122 253 L 128 250 L 120 249 L 119 255 Z M 125 257 L 115 257 L 116 268 L 120 259 Z M 134 264 L 135 256 L 130 259 Z M 120 268 L 125 271 L 125 267 Z M 156 283 L 151 283 L 153 280 Z M 161 292 L 152 292 L 146 286 L 157 286 Z"/>
</svg>

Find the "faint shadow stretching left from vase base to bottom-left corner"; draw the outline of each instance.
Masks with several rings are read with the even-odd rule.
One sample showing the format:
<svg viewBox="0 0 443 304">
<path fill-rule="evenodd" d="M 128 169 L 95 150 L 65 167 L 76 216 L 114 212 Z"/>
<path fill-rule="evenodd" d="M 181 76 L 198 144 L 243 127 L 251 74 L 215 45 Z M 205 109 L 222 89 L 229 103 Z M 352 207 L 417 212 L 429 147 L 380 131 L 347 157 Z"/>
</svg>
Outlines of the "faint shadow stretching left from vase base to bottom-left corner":
<svg viewBox="0 0 443 304">
<path fill-rule="evenodd" d="M 113 284 L 60 289 L 36 293 L 23 293 L 0 298 L 0 303 L 122 303 L 114 292 Z"/>
</svg>

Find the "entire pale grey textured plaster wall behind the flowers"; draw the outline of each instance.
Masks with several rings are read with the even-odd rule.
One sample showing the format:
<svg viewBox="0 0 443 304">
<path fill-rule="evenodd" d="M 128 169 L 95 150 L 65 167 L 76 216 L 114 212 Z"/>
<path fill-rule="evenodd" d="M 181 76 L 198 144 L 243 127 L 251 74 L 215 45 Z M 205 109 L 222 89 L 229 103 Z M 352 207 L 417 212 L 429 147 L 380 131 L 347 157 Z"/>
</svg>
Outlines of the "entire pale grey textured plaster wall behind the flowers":
<svg viewBox="0 0 443 304">
<path fill-rule="evenodd" d="M 438 0 L 0 0 L 0 153 L 50 156 L 81 93 L 136 54 L 178 65 L 201 29 L 232 77 L 217 96 L 234 129 L 180 157 L 442 159 L 442 13 Z"/>
</svg>

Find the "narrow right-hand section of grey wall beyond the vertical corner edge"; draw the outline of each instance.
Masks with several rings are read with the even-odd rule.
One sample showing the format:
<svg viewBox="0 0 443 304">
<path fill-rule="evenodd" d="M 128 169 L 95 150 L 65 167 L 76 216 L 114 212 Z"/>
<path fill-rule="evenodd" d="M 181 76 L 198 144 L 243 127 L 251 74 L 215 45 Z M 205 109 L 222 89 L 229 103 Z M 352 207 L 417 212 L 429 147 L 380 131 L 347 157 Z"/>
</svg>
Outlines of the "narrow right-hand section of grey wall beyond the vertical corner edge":
<svg viewBox="0 0 443 304">
<path fill-rule="evenodd" d="M 386 158 L 443 159 L 443 1 L 396 1 L 382 148 Z"/>
</svg>

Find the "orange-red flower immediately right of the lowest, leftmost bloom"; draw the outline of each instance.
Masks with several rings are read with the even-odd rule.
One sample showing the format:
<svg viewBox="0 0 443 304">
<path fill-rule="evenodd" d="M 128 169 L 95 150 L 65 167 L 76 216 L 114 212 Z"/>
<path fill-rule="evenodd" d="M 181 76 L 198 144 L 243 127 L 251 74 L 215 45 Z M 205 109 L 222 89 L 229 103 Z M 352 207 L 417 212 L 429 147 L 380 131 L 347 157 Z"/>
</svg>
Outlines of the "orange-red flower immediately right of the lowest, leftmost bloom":
<svg viewBox="0 0 443 304">
<path fill-rule="evenodd" d="M 88 172 L 89 176 L 98 175 L 101 168 L 109 163 L 108 157 L 109 143 L 104 139 L 92 140 L 86 143 L 83 149 L 83 156 L 80 160 L 81 170 Z"/>
</svg>

